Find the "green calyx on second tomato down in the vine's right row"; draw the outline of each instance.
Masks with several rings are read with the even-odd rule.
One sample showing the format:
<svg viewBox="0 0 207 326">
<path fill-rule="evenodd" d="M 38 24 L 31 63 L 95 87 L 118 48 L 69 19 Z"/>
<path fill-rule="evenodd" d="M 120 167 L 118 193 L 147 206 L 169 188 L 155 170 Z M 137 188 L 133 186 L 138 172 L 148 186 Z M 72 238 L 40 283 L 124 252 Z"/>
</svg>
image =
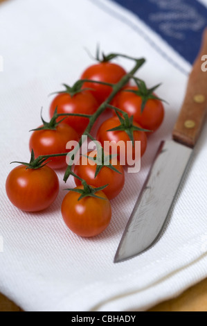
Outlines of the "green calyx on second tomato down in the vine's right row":
<svg viewBox="0 0 207 326">
<path fill-rule="evenodd" d="M 127 135 L 129 136 L 129 139 L 132 141 L 133 147 L 134 147 L 133 132 L 135 130 L 151 132 L 151 130 L 144 129 L 144 128 L 141 128 L 138 126 L 134 126 L 134 124 L 133 124 L 134 117 L 133 116 L 129 117 L 127 112 L 124 112 L 123 110 L 116 108 L 114 105 L 108 105 L 108 108 L 115 110 L 116 115 L 120 121 L 120 125 L 117 127 L 111 128 L 107 131 L 125 131 L 127 133 Z M 122 114 L 123 117 L 119 114 L 119 112 Z"/>
</svg>

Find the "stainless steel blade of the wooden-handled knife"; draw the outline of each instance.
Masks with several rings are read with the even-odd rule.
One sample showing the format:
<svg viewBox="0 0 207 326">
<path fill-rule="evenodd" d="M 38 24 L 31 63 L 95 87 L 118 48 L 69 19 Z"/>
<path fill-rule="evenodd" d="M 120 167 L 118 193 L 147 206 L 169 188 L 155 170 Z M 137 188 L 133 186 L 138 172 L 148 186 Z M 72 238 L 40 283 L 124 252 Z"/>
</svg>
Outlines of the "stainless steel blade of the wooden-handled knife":
<svg viewBox="0 0 207 326">
<path fill-rule="evenodd" d="M 192 152 L 192 148 L 173 140 L 161 142 L 114 262 L 141 254 L 159 239 Z"/>
</svg>

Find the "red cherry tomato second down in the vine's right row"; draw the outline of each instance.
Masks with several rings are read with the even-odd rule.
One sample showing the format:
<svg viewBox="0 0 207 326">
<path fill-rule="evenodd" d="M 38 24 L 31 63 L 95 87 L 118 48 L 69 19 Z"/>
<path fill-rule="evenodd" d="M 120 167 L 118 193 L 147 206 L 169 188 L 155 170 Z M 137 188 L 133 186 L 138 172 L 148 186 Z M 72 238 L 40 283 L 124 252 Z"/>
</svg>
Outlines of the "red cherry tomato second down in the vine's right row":
<svg viewBox="0 0 207 326">
<path fill-rule="evenodd" d="M 140 127 L 138 123 L 134 122 L 134 126 Z M 127 132 L 125 131 L 107 131 L 109 129 L 115 128 L 117 126 L 120 126 L 120 121 L 118 117 L 112 117 L 107 119 L 102 123 L 100 128 L 98 129 L 96 139 L 100 141 L 103 148 L 105 148 L 105 141 L 114 141 L 114 144 L 111 144 L 112 148 L 116 149 L 116 144 L 118 141 L 122 141 L 120 143 L 120 146 L 117 148 L 117 153 L 120 155 L 120 163 L 122 164 L 121 157 L 125 157 L 125 164 L 127 165 L 127 162 L 129 162 L 130 159 L 135 160 L 136 159 L 136 153 L 135 149 L 136 146 L 132 147 L 132 151 L 130 151 L 129 147 L 127 148 L 127 141 L 130 141 L 129 136 L 127 135 Z M 141 156 L 145 153 L 145 149 L 147 148 L 147 136 L 144 131 L 134 130 L 134 141 L 141 141 Z M 105 148 L 105 151 L 108 151 L 107 148 Z"/>
</svg>

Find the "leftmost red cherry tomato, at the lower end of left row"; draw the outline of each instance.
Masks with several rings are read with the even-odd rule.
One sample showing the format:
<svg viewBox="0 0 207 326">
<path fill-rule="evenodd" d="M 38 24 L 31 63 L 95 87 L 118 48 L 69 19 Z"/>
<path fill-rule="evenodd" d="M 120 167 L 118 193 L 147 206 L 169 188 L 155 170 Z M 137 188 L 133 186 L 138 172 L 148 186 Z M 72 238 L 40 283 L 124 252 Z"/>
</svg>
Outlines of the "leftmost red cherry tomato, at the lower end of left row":
<svg viewBox="0 0 207 326">
<path fill-rule="evenodd" d="M 59 192 L 57 174 L 48 166 L 26 169 L 19 165 L 6 179 L 6 193 L 13 205 L 26 212 L 37 212 L 53 203 Z"/>
</svg>

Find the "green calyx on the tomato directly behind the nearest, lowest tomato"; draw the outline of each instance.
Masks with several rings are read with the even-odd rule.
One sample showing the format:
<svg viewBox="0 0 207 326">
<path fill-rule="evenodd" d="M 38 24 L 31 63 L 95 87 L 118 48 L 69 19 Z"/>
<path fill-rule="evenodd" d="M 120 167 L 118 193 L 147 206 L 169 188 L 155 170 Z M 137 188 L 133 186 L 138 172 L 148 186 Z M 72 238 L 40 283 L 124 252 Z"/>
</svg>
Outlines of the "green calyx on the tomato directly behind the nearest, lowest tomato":
<svg viewBox="0 0 207 326">
<path fill-rule="evenodd" d="M 93 136 L 91 136 L 89 134 L 89 132 L 87 132 L 87 136 L 92 140 L 94 141 L 94 143 L 96 144 L 96 151 L 97 151 L 97 155 L 96 155 L 96 172 L 95 172 L 95 176 L 94 178 L 97 177 L 98 173 L 100 172 L 100 170 L 106 166 L 107 168 L 111 169 L 112 171 L 115 171 L 119 174 L 122 174 L 120 171 L 118 171 L 110 162 L 110 160 L 113 158 L 113 157 L 117 157 L 117 154 L 109 154 L 107 155 L 105 152 L 104 152 L 104 149 L 102 148 L 102 146 L 99 144 L 99 141 L 97 141 L 95 138 L 93 138 Z M 89 155 L 83 155 L 82 156 L 84 157 L 87 157 L 88 160 L 91 160 L 94 162 L 94 158 L 95 157 L 90 157 Z"/>
</svg>

